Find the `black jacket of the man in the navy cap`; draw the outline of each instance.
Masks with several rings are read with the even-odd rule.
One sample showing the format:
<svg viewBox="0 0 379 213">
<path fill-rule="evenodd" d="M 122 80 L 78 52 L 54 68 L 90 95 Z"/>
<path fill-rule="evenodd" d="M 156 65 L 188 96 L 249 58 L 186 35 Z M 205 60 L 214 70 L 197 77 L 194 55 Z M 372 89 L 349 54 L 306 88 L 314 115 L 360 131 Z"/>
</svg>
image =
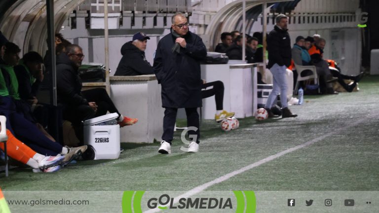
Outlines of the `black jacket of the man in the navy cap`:
<svg viewBox="0 0 379 213">
<path fill-rule="evenodd" d="M 122 58 L 114 75 L 143 75 L 153 74 L 152 66 L 146 60 L 145 52 L 138 49 L 132 44 L 132 41 L 126 42 L 121 47 Z"/>
</svg>

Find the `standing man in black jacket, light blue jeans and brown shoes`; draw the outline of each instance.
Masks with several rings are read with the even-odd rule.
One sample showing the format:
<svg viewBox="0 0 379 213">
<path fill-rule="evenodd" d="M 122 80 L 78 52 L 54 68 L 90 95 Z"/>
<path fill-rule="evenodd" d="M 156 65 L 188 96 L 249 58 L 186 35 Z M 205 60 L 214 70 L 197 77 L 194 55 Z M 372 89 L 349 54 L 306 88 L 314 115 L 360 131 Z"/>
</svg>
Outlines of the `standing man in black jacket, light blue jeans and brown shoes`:
<svg viewBox="0 0 379 213">
<path fill-rule="evenodd" d="M 268 66 L 273 77 L 273 88 L 267 98 L 265 109 L 268 117 L 274 117 L 271 112 L 277 95 L 280 93 L 282 103 L 282 117 L 296 117 L 288 108 L 287 103 L 287 77 L 286 69 L 291 65 L 291 40 L 287 29 L 288 17 L 283 14 L 276 16 L 276 25 L 270 32 L 267 39 Z"/>
</svg>

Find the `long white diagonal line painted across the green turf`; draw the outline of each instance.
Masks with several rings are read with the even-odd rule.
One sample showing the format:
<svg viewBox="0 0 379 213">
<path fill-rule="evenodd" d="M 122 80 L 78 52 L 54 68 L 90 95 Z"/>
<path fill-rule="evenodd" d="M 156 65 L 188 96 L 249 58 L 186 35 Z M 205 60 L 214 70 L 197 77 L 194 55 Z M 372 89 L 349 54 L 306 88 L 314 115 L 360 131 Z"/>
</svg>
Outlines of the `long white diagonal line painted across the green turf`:
<svg viewBox="0 0 379 213">
<path fill-rule="evenodd" d="M 378 116 L 377 113 L 372 114 L 372 115 L 373 115 L 373 117 L 377 117 Z M 255 167 L 258 167 L 258 166 L 260 166 L 260 165 L 262 165 L 264 163 L 267 163 L 267 162 L 272 161 L 272 160 L 274 160 L 276 158 L 279 158 L 279 157 L 281 157 L 281 156 L 283 156 L 285 154 L 291 153 L 291 152 L 296 151 L 298 149 L 301 149 L 301 148 L 303 148 L 305 146 L 311 145 L 311 144 L 313 144 L 315 142 L 319 142 L 319 141 L 321 141 L 321 140 L 323 140 L 323 139 L 325 139 L 325 138 L 327 138 L 329 136 L 336 135 L 337 133 L 340 133 L 341 131 L 346 130 L 346 129 L 350 128 L 350 127 L 356 126 L 357 124 L 362 123 L 363 121 L 366 121 L 366 120 L 367 120 L 367 118 L 361 118 L 361 119 L 359 119 L 359 120 L 351 123 L 350 125 L 341 127 L 341 128 L 339 128 L 337 130 L 334 130 L 333 132 L 327 133 L 327 134 L 322 135 L 322 136 L 320 136 L 318 138 L 312 139 L 312 140 L 310 140 L 308 142 L 305 142 L 305 143 L 302 143 L 300 145 L 294 146 L 292 148 L 286 149 L 284 151 L 278 152 L 278 153 L 276 153 L 274 155 L 271 155 L 269 157 L 266 157 L 266 158 L 264 158 L 264 159 L 262 159 L 260 161 L 257 161 L 255 163 L 252 163 L 252 164 L 248 165 L 248 166 L 242 167 L 241 169 L 236 170 L 236 171 L 231 172 L 231 173 L 228 173 L 228 174 L 226 174 L 226 175 L 224 175 L 224 176 L 222 176 L 220 178 L 216 178 L 216 179 L 211 180 L 209 182 L 206 182 L 206 183 L 204 183 L 202 185 L 196 186 L 195 188 L 189 190 L 188 192 L 175 197 L 173 204 L 178 203 L 180 198 L 189 198 L 190 196 L 193 196 L 193 195 L 195 195 L 195 194 L 197 194 L 197 193 L 199 193 L 201 191 L 204 191 L 205 189 L 209 188 L 212 185 L 224 182 L 224 181 L 228 180 L 229 178 L 232 178 L 232 177 L 234 177 L 236 175 L 239 175 L 239 174 L 241 174 L 243 172 L 251 170 L 251 169 L 253 169 Z M 160 211 L 159 209 L 151 209 L 151 210 L 148 210 L 148 211 L 146 211 L 144 213 L 156 213 L 156 212 L 159 212 L 159 211 Z"/>
</svg>

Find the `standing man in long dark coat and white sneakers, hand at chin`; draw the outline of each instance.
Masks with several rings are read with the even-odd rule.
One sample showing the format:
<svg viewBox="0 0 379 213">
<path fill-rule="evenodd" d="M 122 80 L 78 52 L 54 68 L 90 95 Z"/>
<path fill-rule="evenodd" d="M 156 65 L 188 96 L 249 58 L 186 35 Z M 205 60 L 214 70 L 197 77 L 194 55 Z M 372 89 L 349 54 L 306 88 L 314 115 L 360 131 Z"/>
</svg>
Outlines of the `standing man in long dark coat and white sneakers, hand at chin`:
<svg viewBox="0 0 379 213">
<path fill-rule="evenodd" d="M 163 135 L 158 152 L 171 153 L 171 141 L 178 108 L 186 108 L 187 125 L 194 127 L 189 135 L 196 138 L 189 144 L 188 152 L 199 148 L 199 114 L 201 107 L 200 60 L 207 55 L 202 39 L 189 32 L 188 20 L 182 13 L 172 16 L 171 33 L 164 36 L 156 48 L 154 73 L 162 86 Z"/>
</svg>

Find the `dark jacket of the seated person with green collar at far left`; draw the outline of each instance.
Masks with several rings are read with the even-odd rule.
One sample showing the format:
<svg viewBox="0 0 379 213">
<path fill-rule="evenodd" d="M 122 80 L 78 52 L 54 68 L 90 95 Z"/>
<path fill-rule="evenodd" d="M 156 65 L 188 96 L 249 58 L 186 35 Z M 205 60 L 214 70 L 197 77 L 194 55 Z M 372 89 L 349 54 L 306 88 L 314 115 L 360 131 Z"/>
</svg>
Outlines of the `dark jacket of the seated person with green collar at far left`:
<svg viewBox="0 0 379 213">
<path fill-rule="evenodd" d="M 17 65 L 14 67 L 14 72 L 17 76 L 18 81 L 18 93 L 22 100 L 30 100 L 33 97 L 37 96 L 39 86 L 41 82 L 36 79 L 35 82 L 32 82 L 31 79 L 35 79 L 30 71 L 28 71 L 23 65 Z"/>
</svg>

